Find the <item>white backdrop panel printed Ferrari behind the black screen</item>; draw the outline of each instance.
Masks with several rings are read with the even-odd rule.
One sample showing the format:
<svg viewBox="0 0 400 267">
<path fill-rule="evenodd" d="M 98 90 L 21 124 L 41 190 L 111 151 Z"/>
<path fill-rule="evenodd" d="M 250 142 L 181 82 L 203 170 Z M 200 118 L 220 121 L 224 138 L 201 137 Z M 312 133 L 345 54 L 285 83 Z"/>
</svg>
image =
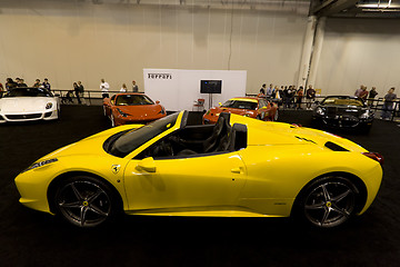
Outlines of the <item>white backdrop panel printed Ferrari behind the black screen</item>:
<svg viewBox="0 0 400 267">
<path fill-rule="evenodd" d="M 246 95 L 246 70 L 180 70 L 143 69 L 144 92 L 153 100 L 160 100 L 167 110 L 192 110 L 197 99 L 206 99 L 204 108 L 210 107 L 209 95 L 200 93 L 201 80 L 222 80 L 221 93 L 212 95 L 212 106 L 232 97 Z"/>
</svg>

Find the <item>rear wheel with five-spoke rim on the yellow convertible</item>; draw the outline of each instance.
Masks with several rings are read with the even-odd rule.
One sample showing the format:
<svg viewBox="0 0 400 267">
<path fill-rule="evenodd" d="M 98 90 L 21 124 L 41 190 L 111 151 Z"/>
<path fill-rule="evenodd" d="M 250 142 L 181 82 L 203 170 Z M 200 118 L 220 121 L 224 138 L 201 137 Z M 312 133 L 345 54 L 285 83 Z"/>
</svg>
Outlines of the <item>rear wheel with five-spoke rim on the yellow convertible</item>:
<svg viewBox="0 0 400 267">
<path fill-rule="evenodd" d="M 312 181 L 294 202 L 294 216 L 318 228 L 347 222 L 358 211 L 359 190 L 343 177 L 323 177 Z"/>
</svg>

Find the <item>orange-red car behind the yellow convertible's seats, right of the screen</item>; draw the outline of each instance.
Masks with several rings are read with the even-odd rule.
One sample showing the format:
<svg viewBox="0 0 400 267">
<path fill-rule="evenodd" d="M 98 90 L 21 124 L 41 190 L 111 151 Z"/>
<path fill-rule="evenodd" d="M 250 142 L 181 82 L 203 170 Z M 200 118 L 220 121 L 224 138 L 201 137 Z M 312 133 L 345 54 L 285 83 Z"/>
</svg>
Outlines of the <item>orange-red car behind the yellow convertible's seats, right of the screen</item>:
<svg viewBox="0 0 400 267">
<path fill-rule="evenodd" d="M 214 107 L 203 116 L 203 123 L 216 123 L 221 112 L 237 113 L 259 120 L 278 120 L 278 105 L 266 98 L 231 98 L 220 107 Z"/>
</svg>

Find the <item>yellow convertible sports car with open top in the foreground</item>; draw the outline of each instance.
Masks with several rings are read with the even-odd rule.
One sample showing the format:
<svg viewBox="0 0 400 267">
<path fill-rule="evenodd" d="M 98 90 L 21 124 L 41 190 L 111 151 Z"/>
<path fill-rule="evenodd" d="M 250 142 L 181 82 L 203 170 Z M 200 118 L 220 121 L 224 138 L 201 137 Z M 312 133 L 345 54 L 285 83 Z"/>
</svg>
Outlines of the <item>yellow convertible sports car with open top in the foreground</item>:
<svg viewBox="0 0 400 267">
<path fill-rule="evenodd" d="M 382 157 L 328 132 L 188 111 L 116 127 L 44 156 L 17 178 L 20 202 L 80 227 L 130 215 L 287 217 L 329 228 L 377 196 Z"/>
</svg>

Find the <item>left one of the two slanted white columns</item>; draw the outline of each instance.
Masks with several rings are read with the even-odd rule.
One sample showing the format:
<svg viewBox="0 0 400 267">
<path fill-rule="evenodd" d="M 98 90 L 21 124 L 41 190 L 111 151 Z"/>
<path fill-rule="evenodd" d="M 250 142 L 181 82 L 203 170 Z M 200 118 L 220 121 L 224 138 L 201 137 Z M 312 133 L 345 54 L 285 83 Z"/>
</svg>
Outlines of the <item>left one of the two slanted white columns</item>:
<svg viewBox="0 0 400 267">
<path fill-rule="evenodd" d="M 311 16 L 308 18 L 307 30 L 303 43 L 303 50 L 301 55 L 298 87 L 306 87 L 306 82 L 309 76 L 310 59 L 312 53 L 313 39 L 316 33 L 317 17 Z"/>
</svg>

